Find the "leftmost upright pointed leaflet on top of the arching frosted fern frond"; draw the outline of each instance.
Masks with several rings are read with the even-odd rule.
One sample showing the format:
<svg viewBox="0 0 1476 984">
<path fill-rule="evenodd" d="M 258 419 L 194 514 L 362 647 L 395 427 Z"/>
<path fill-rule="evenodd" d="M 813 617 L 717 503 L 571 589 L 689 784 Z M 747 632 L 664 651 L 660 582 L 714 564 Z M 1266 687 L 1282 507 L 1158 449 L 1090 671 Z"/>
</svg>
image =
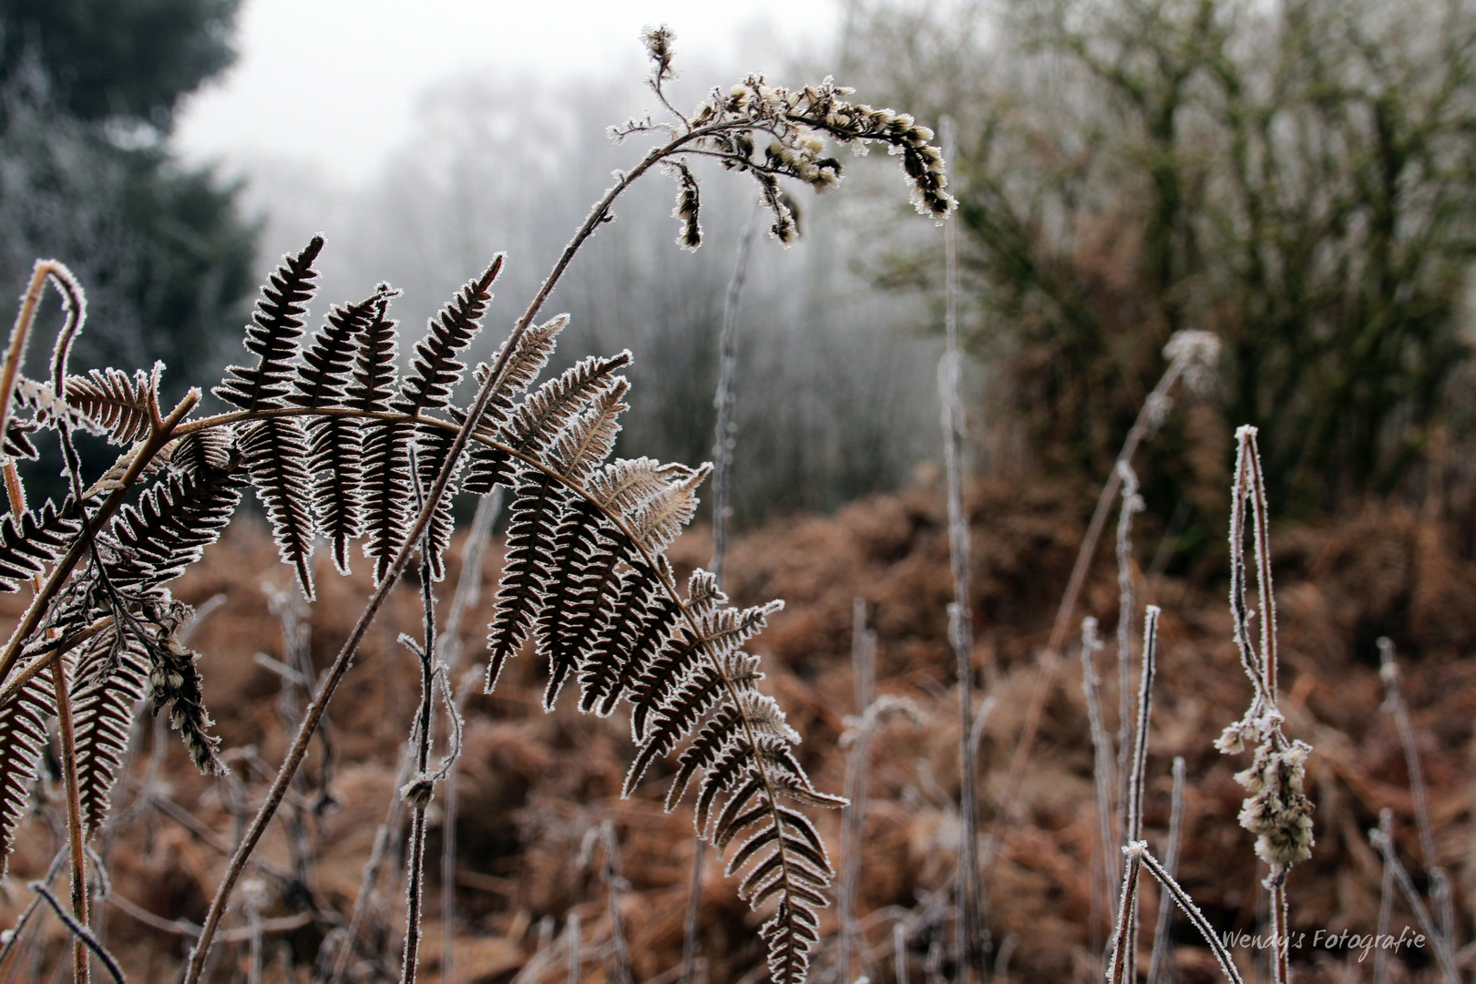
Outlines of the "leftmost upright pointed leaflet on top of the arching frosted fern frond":
<svg viewBox="0 0 1476 984">
<path fill-rule="evenodd" d="M 292 361 L 298 354 L 307 302 L 313 297 L 317 270 L 313 261 L 323 248 L 323 238 L 313 239 L 295 257 L 282 257 L 282 266 L 261 288 L 261 299 L 246 325 L 246 351 L 257 356 L 251 367 L 232 366 L 214 394 L 242 410 L 279 407 L 288 395 Z"/>
</svg>

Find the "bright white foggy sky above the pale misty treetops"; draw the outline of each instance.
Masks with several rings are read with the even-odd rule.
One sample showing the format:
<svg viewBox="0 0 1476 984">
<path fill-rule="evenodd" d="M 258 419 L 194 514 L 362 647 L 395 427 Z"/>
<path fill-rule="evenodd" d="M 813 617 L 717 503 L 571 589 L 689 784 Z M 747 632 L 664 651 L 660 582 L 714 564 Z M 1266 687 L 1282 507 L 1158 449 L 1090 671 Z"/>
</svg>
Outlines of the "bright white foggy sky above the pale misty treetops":
<svg viewBox="0 0 1476 984">
<path fill-rule="evenodd" d="M 644 74 L 641 28 L 667 24 L 688 74 L 741 59 L 773 71 L 837 35 L 840 0 L 246 0 L 236 65 L 183 106 L 176 146 L 226 171 L 297 159 L 345 184 L 413 130 L 425 93 L 459 75 Z"/>
</svg>

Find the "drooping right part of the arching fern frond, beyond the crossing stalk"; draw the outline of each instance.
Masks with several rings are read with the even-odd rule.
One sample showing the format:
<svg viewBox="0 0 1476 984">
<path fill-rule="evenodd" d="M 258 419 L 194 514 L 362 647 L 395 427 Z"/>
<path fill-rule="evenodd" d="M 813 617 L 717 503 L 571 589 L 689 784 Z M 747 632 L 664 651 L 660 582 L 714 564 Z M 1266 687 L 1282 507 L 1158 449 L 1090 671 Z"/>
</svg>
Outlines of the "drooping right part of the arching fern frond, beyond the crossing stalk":
<svg viewBox="0 0 1476 984">
<path fill-rule="evenodd" d="M 669 804 L 695 782 L 698 831 L 719 847 L 741 836 L 731 870 L 756 909 L 778 904 L 763 935 L 775 980 L 794 983 L 818 940 L 832 872 L 813 825 L 785 801 L 843 801 L 813 788 L 791 751 L 797 735 L 757 690 L 757 658 L 741 651 L 779 603 L 731 608 L 706 571 L 694 572 L 685 597 L 675 589 L 664 550 L 691 521 L 710 466 L 601 463 L 627 391 L 614 369 L 627 358 L 586 358 L 478 431 L 489 448 L 480 481 L 514 488 L 487 687 L 531 637 L 549 661 L 545 708 L 571 679 L 582 711 L 630 702 L 636 757 L 626 795 L 691 739 Z"/>
</svg>

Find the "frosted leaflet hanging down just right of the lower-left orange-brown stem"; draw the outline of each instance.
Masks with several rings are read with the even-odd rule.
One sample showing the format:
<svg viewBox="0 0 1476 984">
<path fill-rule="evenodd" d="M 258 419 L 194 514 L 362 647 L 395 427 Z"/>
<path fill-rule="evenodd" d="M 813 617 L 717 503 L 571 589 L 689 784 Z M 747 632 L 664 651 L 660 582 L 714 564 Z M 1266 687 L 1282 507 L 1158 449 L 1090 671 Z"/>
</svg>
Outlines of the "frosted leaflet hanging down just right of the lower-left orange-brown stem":
<svg viewBox="0 0 1476 984">
<path fill-rule="evenodd" d="M 83 829 L 93 834 L 108 816 L 133 716 L 149 685 L 149 654 L 125 631 L 105 628 L 90 639 L 72 674 L 72 735 Z"/>
</svg>

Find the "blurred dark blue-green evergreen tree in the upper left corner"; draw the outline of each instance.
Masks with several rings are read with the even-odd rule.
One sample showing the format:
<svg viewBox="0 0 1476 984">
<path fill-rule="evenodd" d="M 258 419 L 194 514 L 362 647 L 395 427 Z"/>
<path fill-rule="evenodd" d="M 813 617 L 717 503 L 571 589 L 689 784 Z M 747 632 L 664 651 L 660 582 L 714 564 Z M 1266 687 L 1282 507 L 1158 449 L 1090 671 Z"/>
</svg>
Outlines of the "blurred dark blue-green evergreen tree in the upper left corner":
<svg viewBox="0 0 1476 984">
<path fill-rule="evenodd" d="M 0 288 L 35 257 L 89 289 L 78 366 L 165 360 L 183 388 L 238 338 L 255 229 L 180 167 L 179 100 L 235 56 L 238 0 L 0 0 Z M 12 291 L 13 288 L 13 291 Z"/>
</svg>

